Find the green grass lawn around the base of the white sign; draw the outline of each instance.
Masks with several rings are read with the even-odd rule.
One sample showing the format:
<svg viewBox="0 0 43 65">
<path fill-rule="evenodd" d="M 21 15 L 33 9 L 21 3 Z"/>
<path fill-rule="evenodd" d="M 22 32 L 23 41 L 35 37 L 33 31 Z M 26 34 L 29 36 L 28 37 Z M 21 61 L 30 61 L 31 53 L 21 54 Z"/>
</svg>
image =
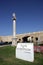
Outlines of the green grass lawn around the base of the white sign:
<svg viewBox="0 0 43 65">
<path fill-rule="evenodd" d="M 0 47 L 0 65 L 43 65 L 43 54 L 35 53 L 34 62 L 28 62 L 15 57 L 15 47 Z"/>
</svg>

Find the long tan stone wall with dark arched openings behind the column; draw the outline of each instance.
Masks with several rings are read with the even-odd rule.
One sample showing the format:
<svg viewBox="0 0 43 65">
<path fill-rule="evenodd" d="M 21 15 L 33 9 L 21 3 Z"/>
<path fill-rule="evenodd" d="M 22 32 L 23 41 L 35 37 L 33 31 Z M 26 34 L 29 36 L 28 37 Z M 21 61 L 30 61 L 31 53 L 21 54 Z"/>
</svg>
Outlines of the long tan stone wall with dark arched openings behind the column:
<svg viewBox="0 0 43 65">
<path fill-rule="evenodd" d="M 36 42 L 36 37 L 40 40 L 43 41 L 43 31 L 41 32 L 33 32 L 33 33 L 25 33 L 25 34 L 17 34 L 17 41 L 22 42 L 22 38 L 26 37 L 26 36 L 30 36 L 33 37 L 33 41 Z M 0 36 L 0 42 L 11 42 L 12 41 L 13 36 Z"/>
</svg>

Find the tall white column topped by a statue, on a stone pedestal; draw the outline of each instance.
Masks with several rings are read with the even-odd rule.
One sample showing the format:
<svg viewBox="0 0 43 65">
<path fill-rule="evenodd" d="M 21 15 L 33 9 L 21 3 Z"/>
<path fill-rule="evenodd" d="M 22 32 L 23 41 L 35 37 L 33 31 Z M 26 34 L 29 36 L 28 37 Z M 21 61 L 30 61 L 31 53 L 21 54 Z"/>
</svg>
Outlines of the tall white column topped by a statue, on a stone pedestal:
<svg viewBox="0 0 43 65">
<path fill-rule="evenodd" d="M 16 15 L 13 13 L 13 38 L 12 38 L 12 46 L 17 45 L 17 37 L 16 37 Z"/>
</svg>

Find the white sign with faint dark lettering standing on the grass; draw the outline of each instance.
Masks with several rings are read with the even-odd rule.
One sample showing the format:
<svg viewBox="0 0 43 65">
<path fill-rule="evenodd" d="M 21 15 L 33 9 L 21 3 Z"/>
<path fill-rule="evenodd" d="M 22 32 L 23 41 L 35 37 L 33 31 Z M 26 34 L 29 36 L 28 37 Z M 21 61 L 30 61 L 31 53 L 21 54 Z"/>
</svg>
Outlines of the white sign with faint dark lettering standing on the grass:
<svg viewBox="0 0 43 65">
<path fill-rule="evenodd" d="M 34 61 L 33 43 L 18 43 L 16 47 L 16 58 L 33 62 Z"/>
</svg>

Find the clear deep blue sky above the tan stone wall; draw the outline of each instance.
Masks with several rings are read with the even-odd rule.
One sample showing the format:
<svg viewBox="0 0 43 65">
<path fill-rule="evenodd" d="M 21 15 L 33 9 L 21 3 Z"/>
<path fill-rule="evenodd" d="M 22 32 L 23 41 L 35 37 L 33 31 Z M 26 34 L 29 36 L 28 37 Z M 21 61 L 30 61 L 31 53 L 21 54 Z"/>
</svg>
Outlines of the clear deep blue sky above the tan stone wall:
<svg viewBox="0 0 43 65">
<path fill-rule="evenodd" d="M 16 34 L 43 31 L 43 0 L 0 0 L 0 36 L 13 35 L 14 12 Z"/>
</svg>

